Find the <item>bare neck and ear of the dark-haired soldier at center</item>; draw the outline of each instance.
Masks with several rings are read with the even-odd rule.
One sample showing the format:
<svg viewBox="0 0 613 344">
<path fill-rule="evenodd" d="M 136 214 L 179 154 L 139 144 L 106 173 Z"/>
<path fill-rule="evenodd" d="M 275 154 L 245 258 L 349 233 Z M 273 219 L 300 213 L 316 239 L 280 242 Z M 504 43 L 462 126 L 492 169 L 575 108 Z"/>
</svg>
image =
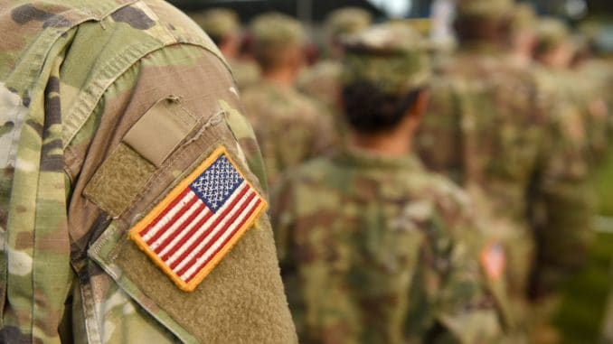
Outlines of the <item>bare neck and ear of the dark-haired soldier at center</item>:
<svg viewBox="0 0 613 344">
<path fill-rule="evenodd" d="M 364 133 L 350 128 L 350 147 L 381 156 L 400 157 L 411 154 L 413 137 L 420 126 L 428 102 L 429 91 L 420 91 L 415 104 L 407 110 L 401 122 L 390 130 Z"/>
</svg>

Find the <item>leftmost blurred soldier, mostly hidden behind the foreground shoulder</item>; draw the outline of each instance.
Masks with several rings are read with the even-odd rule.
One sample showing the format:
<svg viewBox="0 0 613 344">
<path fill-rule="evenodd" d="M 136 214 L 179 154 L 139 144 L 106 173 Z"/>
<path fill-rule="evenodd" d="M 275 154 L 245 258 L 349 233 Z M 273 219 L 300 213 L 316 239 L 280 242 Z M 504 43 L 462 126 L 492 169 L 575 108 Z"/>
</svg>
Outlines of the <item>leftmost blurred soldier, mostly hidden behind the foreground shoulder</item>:
<svg viewBox="0 0 613 344">
<path fill-rule="evenodd" d="M 239 16 L 227 8 L 213 8 L 190 14 L 193 21 L 208 33 L 230 62 L 232 75 L 239 87 L 246 88 L 259 80 L 259 67 L 254 61 L 239 59 L 241 33 Z"/>
</svg>

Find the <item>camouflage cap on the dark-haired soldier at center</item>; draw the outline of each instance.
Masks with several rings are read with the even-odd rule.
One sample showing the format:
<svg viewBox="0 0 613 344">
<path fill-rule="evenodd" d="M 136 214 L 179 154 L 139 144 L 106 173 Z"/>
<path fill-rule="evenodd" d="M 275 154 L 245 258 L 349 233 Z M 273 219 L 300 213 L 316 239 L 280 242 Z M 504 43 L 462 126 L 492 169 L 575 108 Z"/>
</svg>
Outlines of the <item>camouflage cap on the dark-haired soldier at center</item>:
<svg viewBox="0 0 613 344">
<path fill-rule="evenodd" d="M 343 41 L 344 86 L 360 82 L 401 96 L 428 86 L 430 42 L 407 25 L 375 25 Z"/>
</svg>

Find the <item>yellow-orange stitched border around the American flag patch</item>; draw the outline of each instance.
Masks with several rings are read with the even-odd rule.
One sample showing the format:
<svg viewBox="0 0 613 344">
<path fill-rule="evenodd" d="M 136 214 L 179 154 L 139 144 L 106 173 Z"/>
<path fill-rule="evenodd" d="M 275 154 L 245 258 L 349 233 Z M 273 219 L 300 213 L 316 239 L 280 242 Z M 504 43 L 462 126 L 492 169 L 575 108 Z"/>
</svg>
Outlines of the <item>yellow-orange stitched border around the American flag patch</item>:
<svg viewBox="0 0 613 344">
<path fill-rule="evenodd" d="M 245 221 L 242 227 L 237 229 L 237 232 L 230 238 L 230 241 L 228 241 L 228 243 L 223 246 L 222 249 L 215 256 L 212 256 L 211 261 L 200 269 L 198 274 L 193 277 L 190 283 L 185 283 L 181 279 L 181 277 L 175 274 L 174 271 L 171 270 L 170 267 L 166 265 L 162 261 L 162 259 L 160 259 L 159 256 L 156 255 L 156 253 L 146 244 L 145 240 L 143 240 L 143 237 L 141 237 L 138 233 L 144 228 L 146 228 L 146 226 L 149 225 L 149 223 L 151 223 L 154 219 L 156 219 L 157 216 L 165 210 L 169 203 L 171 203 L 176 197 L 178 197 L 179 194 L 181 194 L 181 192 L 184 191 L 184 189 L 187 188 L 190 183 L 192 183 L 196 178 L 198 178 L 198 176 L 202 174 L 204 170 L 211 166 L 212 163 L 214 163 L 223 154 L 225 154 L 226 158 L 232 164 L 234 169 L 239 172 L 240 177 L 242 177 L 242 179 L 247 182 L 250 188 L 255 191 L 256 195 L 262 201 L 259 204 L 258 208 L 254 209 L 250 218 Z M 210 274 L 212 272 L 212 269 L 214 269 L 215 266 L 217 266 L 222 261 L 222 258 L 230 252 L 232 247 L 236 245 L 236 243 L 245 234 L 245 232 L 247 232 L 247 230 L 254 225 L 255 221 L 267 208 L 268 202 L 259 194 L 258 190 L 253 187 L 250 181 L 240 171 L 240 168 L 236 163 L 234 163 L 226 147 L 220 145 L 211 153 L 211 155 L 209 155 L 208 158 L 203 161 L 203 163 L 200 163 L 198 167 L 193 170 L 193 172 L 191 172 L 187 177 L 184 178 L 183 181 L 177 184 L 174 189 L 166 195 L 164 200 L 161 200 L 154 209 L 149 211 L 145 218 L 142 218 L 133 228 L 129 229 L 128 238 L 130 240 L 133 240 L 137 244 L 138 248 L 145 252 L 146 256 L 149 256 L 149 258 L 153 260 L 157 267 L 159 267 L 174 282 L 174 284 L 179 287 L 179 289 L 184 292 L 193 292 L 193 290 L 198 286 L 198 284 L 203 282 L 203 279 L 208 274 Z"/>
</svg>

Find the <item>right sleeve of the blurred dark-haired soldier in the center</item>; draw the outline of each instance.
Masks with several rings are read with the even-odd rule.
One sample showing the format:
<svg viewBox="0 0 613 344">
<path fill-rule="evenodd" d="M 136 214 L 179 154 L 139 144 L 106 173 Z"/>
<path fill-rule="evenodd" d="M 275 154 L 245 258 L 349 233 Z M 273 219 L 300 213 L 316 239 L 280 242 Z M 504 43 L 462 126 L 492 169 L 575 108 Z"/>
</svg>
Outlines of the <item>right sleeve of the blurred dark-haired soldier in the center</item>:
<svg viewBox="0 0 613 344">
<path fill-rule="evenodd" d="M 467 196 L 448 183 L 441 185 L 448 186 L 427 233 L 420 272 L 420 287 L 434 310 L 426 342 L 494 342 L 503 334 L 500 313 L 478 263 L 484 240 Z"/>
</svg>

